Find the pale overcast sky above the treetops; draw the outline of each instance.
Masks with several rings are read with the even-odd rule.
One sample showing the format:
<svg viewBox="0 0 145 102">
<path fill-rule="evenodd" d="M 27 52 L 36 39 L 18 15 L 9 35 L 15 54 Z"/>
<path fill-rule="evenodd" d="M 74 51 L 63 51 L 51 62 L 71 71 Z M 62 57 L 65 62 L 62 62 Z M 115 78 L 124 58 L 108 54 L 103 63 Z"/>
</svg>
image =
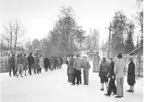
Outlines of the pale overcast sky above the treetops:
<svg viewBox="0 0 145 102">
<path fill-rule="evenodd" d="M 61 6 L 73 8 L 78 25 L 87 33 L 98 29 L 101 41 L 108 36 L 105 28 L 115 11 L 131 17 L 137 9 L 136 0 L 0 0 L 0 33 L 8 21 L 17 20 L 26 30 L 23 39 L 41 39 L 53 28 Z"/>
</svg>

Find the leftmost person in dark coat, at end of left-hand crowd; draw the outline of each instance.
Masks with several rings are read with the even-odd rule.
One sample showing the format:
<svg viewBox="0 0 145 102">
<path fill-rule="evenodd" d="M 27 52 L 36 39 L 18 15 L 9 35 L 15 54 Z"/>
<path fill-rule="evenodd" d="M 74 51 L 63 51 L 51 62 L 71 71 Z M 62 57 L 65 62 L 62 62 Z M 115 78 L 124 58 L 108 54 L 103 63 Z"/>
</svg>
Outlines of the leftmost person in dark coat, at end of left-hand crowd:
<svg viewBox="0 0 145 102">
<path fill-rule="evenodd" d="M 9 75 L 11 77 L 11 71 L 13 70 L 13 76 L 16 75 L 16 71 L 15 71 L 15 55 L 13 54 L 12 57 L 9 58 L 8 60 L 9 63 Z"/>
</svg>

